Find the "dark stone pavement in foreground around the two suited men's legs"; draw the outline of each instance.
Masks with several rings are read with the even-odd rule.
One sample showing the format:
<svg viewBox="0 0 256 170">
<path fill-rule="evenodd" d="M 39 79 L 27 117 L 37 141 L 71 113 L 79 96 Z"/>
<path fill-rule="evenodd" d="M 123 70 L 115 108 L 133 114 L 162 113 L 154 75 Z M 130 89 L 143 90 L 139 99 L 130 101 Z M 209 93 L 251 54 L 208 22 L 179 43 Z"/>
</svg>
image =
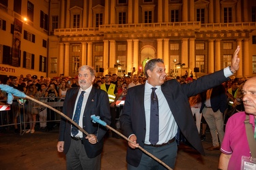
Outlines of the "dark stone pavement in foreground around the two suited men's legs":
<svg viewBox="0 0 256 170">
<path fill-rule="evenodd" d="M 35 131 L 23 135 L 12 131 L 0 133 L 0 170 L 7 169 L 66 169 L 65 155 L 57 152 L 58 130 Z M 206 135 L 203 147 L 212 145 L 210 134 Z M 109 137 L 105 139 L 101 169 L 127 169 L 126 140 Z M 192 148 L 181 144 L 177 153 L 175 170 L 217 169 L 220 151 L 205 150 L 201 156 Z"/>
</svg>

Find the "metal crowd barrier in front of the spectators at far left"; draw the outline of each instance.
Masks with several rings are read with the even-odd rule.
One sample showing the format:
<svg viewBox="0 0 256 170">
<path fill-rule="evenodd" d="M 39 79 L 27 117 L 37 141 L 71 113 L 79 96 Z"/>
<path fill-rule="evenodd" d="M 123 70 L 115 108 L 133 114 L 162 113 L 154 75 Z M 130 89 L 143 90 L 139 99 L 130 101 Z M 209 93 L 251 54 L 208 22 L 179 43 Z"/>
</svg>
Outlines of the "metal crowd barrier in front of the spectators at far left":
<svg viewBox="0 0 256 170">
<path fill-rule="evenodd" d="M 62 111 L 63 99 L 59 97 L 41 97 L 38 99 L 42 103 L 46 103 L 55 109 Z M 29 99 L 14 99 L 12 105 L 9 105 L 10 109 L 1 110 L 1 106 L 8 107 L 6 100 L 0 100 L 0 129 L 17 129 L 20 135 L 25 133 L 26 126 L 29 123 L 29 114 L 36 114 L 36 124 L 40 124 L 40 127 L 53 128 L 56 123 L 60 121 L 61 116 L 51 109 L 44 107 Z"/>
</svg>

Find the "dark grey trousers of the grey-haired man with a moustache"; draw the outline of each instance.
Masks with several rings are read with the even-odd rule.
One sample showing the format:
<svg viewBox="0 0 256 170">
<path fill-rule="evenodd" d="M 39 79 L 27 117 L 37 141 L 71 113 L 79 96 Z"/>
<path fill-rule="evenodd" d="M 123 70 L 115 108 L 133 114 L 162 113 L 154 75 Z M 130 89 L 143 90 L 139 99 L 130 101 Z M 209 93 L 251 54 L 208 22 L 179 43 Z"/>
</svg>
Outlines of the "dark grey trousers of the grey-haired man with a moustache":
<svg viewBox="0 0 256 170">
<path fill-rule="evenodd" d="M 100 170 L 100 158 L 101 154 L 95 158 L 88 158 L 81 140 L 71 139 L 70 148 L 66 154 L 67 169 Z"/>
</svg>

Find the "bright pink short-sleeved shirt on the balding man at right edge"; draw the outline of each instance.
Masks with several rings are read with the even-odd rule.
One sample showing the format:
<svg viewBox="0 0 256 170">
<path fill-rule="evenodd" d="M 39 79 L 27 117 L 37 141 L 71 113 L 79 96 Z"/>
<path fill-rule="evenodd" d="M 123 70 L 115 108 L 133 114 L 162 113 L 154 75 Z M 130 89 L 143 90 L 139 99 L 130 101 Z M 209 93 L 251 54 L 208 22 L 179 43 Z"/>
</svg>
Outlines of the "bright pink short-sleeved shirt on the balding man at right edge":
<svg viewBox="0 0 256 170">
<path fill-rule="evenodd" d="M 227 169 L 240 169 L 242 156 L 251 156 L 244 125 L 245 118 L 245 112 L 238 112 L 227 121 L 221 144 L 221 152 L 231 154 Z M 253 124 L 253 129 L 255 129 L 254 119 L 254 116 L 250 115 L 250 124 Z"/>
</svg>

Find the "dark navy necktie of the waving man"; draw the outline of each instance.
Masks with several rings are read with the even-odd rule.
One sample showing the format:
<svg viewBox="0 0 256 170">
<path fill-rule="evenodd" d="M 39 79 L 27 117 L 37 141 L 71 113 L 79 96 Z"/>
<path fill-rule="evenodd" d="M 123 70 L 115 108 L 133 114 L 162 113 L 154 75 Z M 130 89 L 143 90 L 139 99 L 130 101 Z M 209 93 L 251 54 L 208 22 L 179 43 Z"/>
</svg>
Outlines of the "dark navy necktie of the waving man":
<svg viewBox="0 0 256 170">
<path fill-rule="evenodd" d="M 156 145 L 158 142 L 159 133 L 159 112 L 158 98 L 155 92 L 156 88 L 152 88 L 151 105 L 150 105 L 150 143 Z"/>
</svg>

